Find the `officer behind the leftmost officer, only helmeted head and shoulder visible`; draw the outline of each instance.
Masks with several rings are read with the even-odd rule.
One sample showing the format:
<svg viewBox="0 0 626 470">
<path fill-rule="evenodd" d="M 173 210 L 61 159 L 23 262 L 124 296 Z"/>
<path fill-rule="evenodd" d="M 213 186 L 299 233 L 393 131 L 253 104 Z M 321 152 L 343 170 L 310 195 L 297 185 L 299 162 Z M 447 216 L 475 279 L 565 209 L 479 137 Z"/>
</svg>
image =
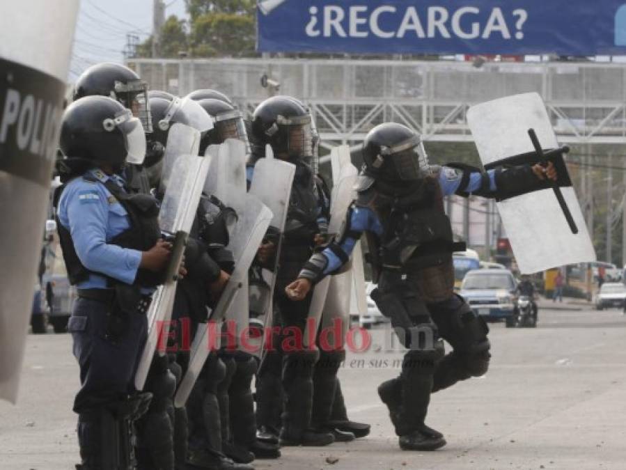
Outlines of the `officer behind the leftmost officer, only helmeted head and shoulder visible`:
<svg viewBox="0 0 626 470">
<path fill-rule="evenodd" d="M 85 96 L 107 96 L 117 100 L 134 117 L 141 120 L 143 130 L 148 137 L 146 161 L 142 164 L 129 164 L 125 169 L 127 187 L 133 193 L 148 194 L 150 184 L 145 166 L 157 163 L 163 157 L 163 146 L 150 139 L 152 119 L 148 100 L 148 84 L 134 71 L 119 63 L 98 63 L 85 70 L 77 79 L 74 88 L 74 100 Z"/>
</svg>

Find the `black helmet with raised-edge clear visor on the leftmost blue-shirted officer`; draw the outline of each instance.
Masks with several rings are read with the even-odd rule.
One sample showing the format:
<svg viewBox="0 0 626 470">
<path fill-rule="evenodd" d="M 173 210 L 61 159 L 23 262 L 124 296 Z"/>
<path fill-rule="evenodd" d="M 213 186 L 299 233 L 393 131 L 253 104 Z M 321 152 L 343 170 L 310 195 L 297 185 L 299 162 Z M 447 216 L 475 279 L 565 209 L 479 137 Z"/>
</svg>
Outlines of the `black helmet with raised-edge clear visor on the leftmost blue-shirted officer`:
<svg viewBox="0 0 626 470">
<path fill-rule="evenodd" d="M 88 96 L 65 109 L 59 146 L 69 161 L 141 164 L 146 134 L 130 109 L 111 98 Z"/>
</svg>

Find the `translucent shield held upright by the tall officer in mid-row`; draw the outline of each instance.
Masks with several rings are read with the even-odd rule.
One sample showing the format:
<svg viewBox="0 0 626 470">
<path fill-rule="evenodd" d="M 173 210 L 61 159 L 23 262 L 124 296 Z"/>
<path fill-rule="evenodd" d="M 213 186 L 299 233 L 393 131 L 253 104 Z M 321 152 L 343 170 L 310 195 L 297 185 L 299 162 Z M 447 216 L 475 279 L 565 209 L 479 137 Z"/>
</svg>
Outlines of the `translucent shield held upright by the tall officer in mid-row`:
<svg viewBox="0 0 626 470">
<path fill-rule="evenodd" d="M 272 326 L 272 297 L 274 296 L 274 287 L 276 285 L 278 260 L 281 255 L 283 230 L 287 220 L 289 197 L 294 175 L 294 164 L 282 162 L 273 157 L 265 157 L 256 162 L 250 186 L 250 194 L 258 197 L 274 214 L 272 222 L 269 224 L 272 231 L 271 236 L 274 238 L 276 245 L 274 267 L 273 269 L 260 267 L 256 269 L 256 267 L 253 267 L 252 269 L 256 269 L 255 274 L 258 274 L 260 279 L 255 279 L 254 283 L 251 283 L 249 290 L 249 305 L 254 305 L 254 308 L 251 309 L 251 314 L 257 315 L 257 322 L 265 325 L 265 327 Z M 251 352 L 254 352 L 257 357 L 260 357 L 263 352 L 264 340 L 265 334 L 260 337 L 249 338 Z"/>
</svg>

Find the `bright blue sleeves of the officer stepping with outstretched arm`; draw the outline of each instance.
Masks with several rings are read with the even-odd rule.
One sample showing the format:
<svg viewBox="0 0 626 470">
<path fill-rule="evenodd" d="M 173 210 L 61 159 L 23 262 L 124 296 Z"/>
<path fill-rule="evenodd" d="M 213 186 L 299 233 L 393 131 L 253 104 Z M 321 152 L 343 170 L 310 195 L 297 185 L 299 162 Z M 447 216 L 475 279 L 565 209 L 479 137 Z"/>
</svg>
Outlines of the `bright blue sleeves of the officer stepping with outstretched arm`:
<svg viewBox="0 0 626 470">
<path fill-rule="evenodd" d="M 496 182 L 494 179 L 494 170 L 487 171 L 490 180 L 490 189 L 496 190 Z M 461 173 L 445 166 L 441 168 L 439 172 L 439 185 L 444 196 L 455 194 L 459 185 L 461 184 Z M 480 188 L 483 176 L 480 173 L 471 173 L 469 176 L 469 182 L 465 191 L 468 193 L 477 191 Z M 376 235 L 382 235 L 382 224 L 380 223 L 377 215 L 369 207 L 353 207 L 352 216 L 350 219 L 350 230 L 354 231 L 354 235 L 360 234 L 365 231 L 370 231 Z M 345 237 L 345 240 L 339 244 L 341 251 L 345 253 L 346 258 L 352 254 L 354 245 L 357 244 L 357 238 Z M 322 251 L 322 254 L 328 260 L 328 264 L 324 268 L 324 275 L 334 272 L 343 264 L 341 259 L 327 248 Z"/>
</svg>

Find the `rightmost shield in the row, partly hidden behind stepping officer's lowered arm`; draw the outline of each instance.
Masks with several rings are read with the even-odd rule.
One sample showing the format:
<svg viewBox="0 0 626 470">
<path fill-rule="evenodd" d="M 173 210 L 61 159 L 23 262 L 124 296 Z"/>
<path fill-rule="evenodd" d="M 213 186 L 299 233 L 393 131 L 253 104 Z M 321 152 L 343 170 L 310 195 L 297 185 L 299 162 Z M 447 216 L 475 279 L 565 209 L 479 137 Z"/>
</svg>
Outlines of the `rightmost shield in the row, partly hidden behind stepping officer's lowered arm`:
<svg viewBox="0 0 626 470">
<path fill-rule="evenodd" d="M 354 165 L 350 162 L 350 148 L 348 146 L 339 146 L 334 148 L 331 151 L 331 161 L 332 159 L 336 159 L 338 164 L 335 165 L 338 171 L 338 178 L 333 178 L 333 189 L 331 191 L 331 207 L 330 207 L 330 220 L 328 224 L 328 235 L 329 237 L 334 237 L 341 231 L 341 227 L 345 223 L 345 216 L 350 207 L 350 204 L 354 200 L 354 183 L 357 181 L 357 169 L 354 168 Z M 342 270 L 347 276 L 351 276 L 350 271 L 350 263 Z M 311 299 L 311 306 L 308 309 L 308 318 L 314 318 L 314 322 L 306 322 L 306 328 L 304 331 L 304 345 L 306 347 L 310 346 L 309 338 L 315 338 L 315 333 L 318 331 L 318 327 L 320 326 L 320 320 L 322 317 L 322 311 L 324 310 L 324 304 L 327 299 L 327 292 L 329 290 L 329 285 L 333 282 L 333 279 L 336 276 L 327 276 L 322 281 L 320 281 L 315 288 L 313 289 L 313 298 Z M 349 279 L 349 278 L 346 278 Z M 338 295 L 336 297 L 347 297 L 348 302 L 350 301 L 350 282 L 345 282 L 346 279 L 334 281 L 337 282 L 337 285 L 334 289 L 338 290 Z M 348 291 L 344 292 L 342 288 L 346 287 Z M 340 290 L 341 293 L 339 292 Z M 343 301 L 342 301 L 343 303 Z M 349 305 L 349 304 L 348 304 Z M 333 307 L 333 306 L 331 306 Z M 348 307 L 342 305 L 338 307 L 343 307 L 341 312 L 345 312 Z M 315 331 L 309 331 L 309 324 L 314 324 Z M 311 335 L 311 336 L 310 336 Z"/>
</svg>

